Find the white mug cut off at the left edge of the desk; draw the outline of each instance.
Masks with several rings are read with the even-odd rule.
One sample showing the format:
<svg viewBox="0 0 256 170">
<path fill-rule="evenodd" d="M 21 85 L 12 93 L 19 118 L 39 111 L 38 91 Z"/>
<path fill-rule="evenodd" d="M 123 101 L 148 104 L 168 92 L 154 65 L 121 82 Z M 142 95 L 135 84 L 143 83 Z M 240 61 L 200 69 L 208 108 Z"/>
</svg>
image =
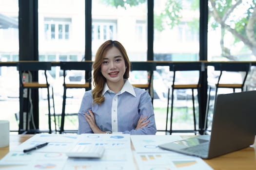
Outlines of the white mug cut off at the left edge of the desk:
<svg viewBox="0 0 256 170">
<path fill-rule="evenodd" d="M 9 146 L 10 123 L 9 120 L 0 120 L 0 148 Z"/>
</svg>

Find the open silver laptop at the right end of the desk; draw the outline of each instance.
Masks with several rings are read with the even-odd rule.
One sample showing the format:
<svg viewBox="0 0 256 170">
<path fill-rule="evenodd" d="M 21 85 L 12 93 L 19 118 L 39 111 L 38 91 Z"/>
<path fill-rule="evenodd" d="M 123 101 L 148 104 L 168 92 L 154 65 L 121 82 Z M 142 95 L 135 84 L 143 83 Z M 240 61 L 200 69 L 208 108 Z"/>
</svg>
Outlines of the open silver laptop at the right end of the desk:
<svg viewBox="0 0 256 170">
<path fill-rule="evenodd" d="M 210 159 L 249 147 L 255 137 L 256 91 L 245 91 L 217 95 L 211 136 L 196 136 L 158 147 Z"/>
</svg>

